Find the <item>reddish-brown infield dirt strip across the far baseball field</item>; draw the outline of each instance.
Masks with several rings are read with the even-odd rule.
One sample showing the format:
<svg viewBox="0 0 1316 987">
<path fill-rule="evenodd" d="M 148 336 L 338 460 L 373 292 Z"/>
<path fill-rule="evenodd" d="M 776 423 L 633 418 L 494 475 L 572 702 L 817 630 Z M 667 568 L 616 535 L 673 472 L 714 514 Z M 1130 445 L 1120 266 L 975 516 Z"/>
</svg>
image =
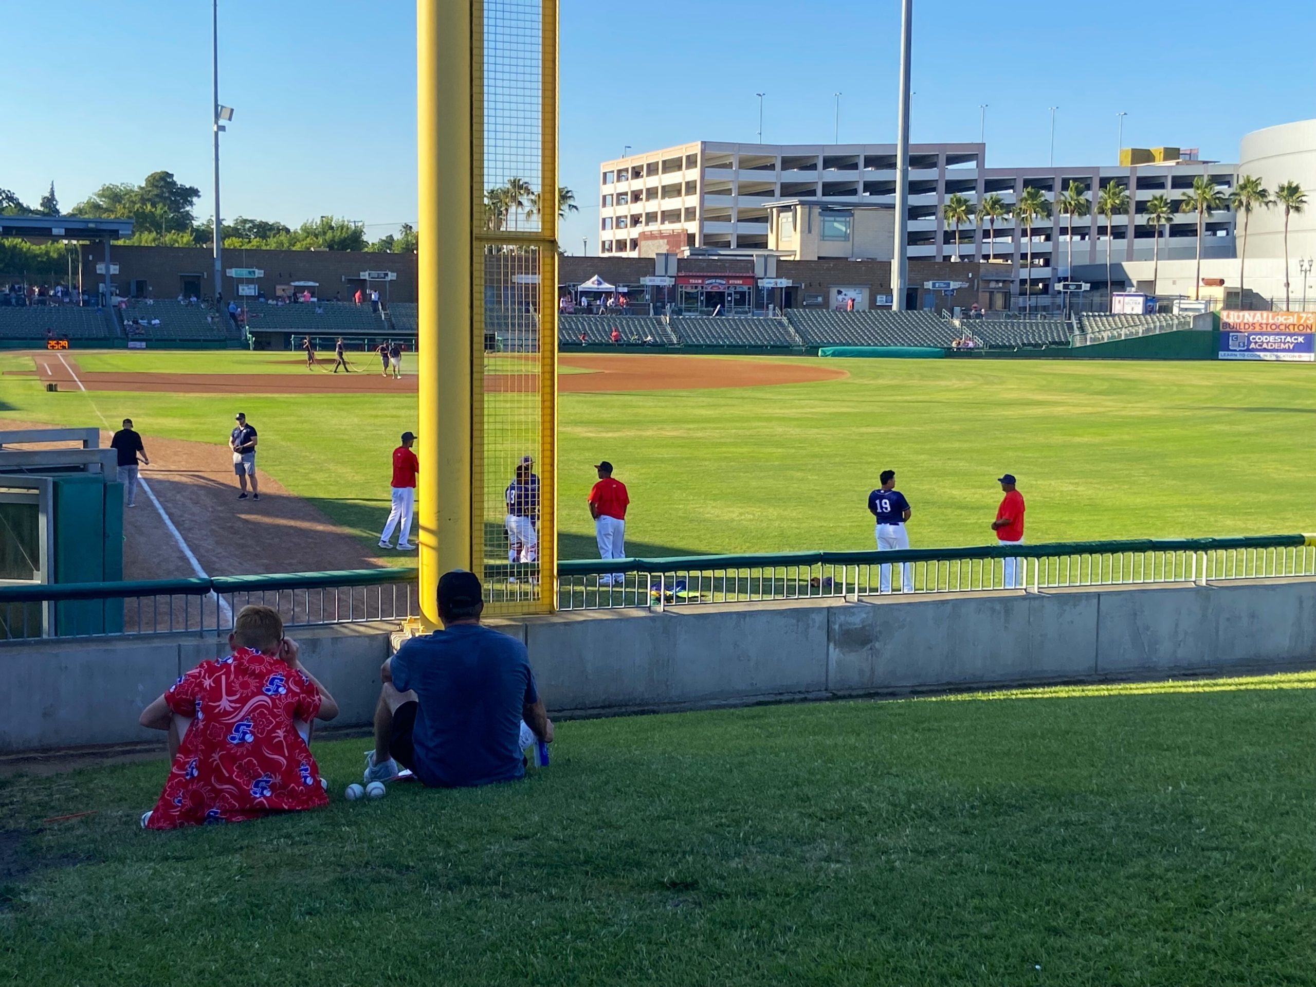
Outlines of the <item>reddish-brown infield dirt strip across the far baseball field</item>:
<svg viewBox="0 0 1316 987">
<path fill-rule="evenodd" d="M 49 357 L 49 354 L 41 354 Z M 501 366 L 516 359 L 504 354 Z M 779 363 L 734 359 L 730 357 L 678 357 L 670 354 L 563 354 L 559 362 L 574 374 L 558 376 L 562 393 L 603 393 L 619 391 L 701 391 L 717 387 L 765 387 L 836 380 L 844 370 L 816 363 Z M 401 380 L 380 376 L 372 368 L 353 374 L 307 372 L 300 361 L 288 361 L 287 374 L 132 374 L 83 371 L 75 358 L 38 359 L 37 376 L 61 390 L 88 391 L 154 391 L 166 393 L 232 393 L 237 390 L 271 390 L 279 393 L 396 393 L 415 391 L 415 374 Z M 522 391 L 534 388 L 532 375 L 515 372 L 490 374 L 487 391 Z"/>
</svg>

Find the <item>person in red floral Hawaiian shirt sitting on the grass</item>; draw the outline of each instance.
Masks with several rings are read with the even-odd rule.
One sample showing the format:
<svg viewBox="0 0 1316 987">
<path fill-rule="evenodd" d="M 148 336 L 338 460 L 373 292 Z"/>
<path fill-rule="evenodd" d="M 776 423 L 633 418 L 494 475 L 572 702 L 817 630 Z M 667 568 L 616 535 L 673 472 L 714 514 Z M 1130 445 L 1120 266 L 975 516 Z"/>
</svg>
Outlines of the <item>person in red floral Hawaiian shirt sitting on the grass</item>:
<svg viewBox="0 0 1316 987">
<path fill-rule="evenodd" d="M 243 607 L 229 634 L 233 654 L 201 662 L 142 712 L 170 733 L 172 767 L 146 829 L 238 822 L 329 799 L 307 746 L 313 719 L 338 704 L 297 662 L 270 607 Z"/>
</svg>

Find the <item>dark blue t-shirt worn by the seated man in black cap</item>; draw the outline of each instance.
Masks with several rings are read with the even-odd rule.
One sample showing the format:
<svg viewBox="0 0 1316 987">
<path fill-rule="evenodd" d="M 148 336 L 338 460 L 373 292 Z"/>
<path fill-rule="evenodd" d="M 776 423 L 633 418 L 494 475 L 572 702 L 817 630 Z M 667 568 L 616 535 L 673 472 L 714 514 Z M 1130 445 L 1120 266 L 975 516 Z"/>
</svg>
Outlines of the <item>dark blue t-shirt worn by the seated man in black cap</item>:
<svg viewBox="0 0 1316 987">
<path fill-rule="evenodd" d="M 425 784 L 509 782 L 525 774 L 521 711 L 540 699 L 516 638 L 479 624 L 413 637 L 392 661 L 393 686 L 420 700 L 413 770 Z"/>
</svg>

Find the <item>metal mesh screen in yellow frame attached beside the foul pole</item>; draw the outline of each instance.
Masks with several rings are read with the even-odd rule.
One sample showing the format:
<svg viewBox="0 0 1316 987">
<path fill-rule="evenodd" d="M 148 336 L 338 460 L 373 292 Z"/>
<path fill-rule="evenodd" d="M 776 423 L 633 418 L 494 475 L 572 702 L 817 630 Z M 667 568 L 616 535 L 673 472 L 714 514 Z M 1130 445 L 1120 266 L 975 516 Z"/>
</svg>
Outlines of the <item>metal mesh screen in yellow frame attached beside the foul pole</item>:
<svg viewBox="0 0 1316 987">
<path fill-rule="evenodd" d="M 475 14 L 472 557 L 491 609 L 524 613 L 553 608 L 557 562 L 557 0 Z"/>
</svg>

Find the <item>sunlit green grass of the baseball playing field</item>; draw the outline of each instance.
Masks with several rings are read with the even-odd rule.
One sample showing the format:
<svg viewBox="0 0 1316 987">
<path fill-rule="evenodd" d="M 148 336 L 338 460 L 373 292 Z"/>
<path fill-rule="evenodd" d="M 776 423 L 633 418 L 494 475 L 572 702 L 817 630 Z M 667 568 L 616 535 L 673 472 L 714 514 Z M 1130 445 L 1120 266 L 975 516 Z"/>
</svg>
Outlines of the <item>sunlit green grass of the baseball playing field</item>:
<svg viewBox="0 0 1316 987">
<path fill-rule="evenodd" d="M 14 359 L 14 358 L 9 358 Z M 83 355 L 91 368 L 257 374 L 287 354 Z M 799 358 L 796 358 L 799 359 Z M 138 363 L 137 361 L 145 361 Z M 99 363 L 97 363 L 99 362 Z M 830 361 L 844 380 L 566 393 L 559 413 L 563 555 L 594 554 L 591 463 L 630 487 L 632 554 L 870 547 L 865 503 L 884 467 L 913 505 L 915 546 L 990 541 L 1015 472 L 1032 542 L 1311 529 L 1316 375 L 1302 365 Z M 12 368 L 12 367 L 11 367 Z M 417 426 L 408 395 L 46 393 L 0 379 L 0 418 L 134 418 L 146 437 L 222 442 L 242 408 L 262 467 L 376 537 L 388 453 Z M 95 404 L 95 408 L 93 408 Z M 417 429 L 420 430 L 420 429 Z"/>
</svg>

